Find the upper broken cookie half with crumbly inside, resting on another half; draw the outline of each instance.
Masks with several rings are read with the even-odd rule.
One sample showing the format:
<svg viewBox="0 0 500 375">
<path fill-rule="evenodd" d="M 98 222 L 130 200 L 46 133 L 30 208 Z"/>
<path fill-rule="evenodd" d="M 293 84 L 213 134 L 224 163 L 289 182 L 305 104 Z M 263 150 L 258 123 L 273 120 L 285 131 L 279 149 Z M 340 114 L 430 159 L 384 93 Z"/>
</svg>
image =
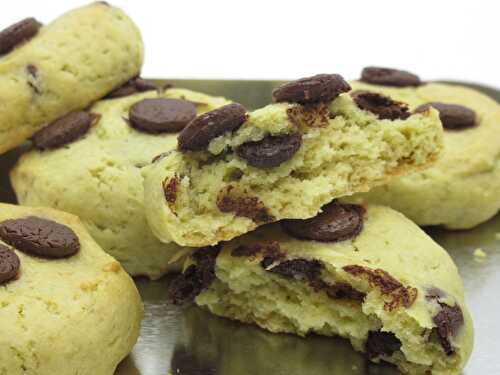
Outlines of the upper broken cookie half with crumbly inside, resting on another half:
<svg viewBox="0 0 500 375">
<path fill-rule="evenodd" d="M 319 75 L 279 87 L 264 108 L 234 103 L 193 120 L 178 149 L 144 169 L 153 233 L 182 246 L 214 245 L 269 222 L 313 217 L 335 197 L 437 158 L 437 111 L 412 114 L 390 98 L 362 107 L 348 90 L 340 76 Z M 405 115 L 381 118 L 383 110 Z"/>
</svg>

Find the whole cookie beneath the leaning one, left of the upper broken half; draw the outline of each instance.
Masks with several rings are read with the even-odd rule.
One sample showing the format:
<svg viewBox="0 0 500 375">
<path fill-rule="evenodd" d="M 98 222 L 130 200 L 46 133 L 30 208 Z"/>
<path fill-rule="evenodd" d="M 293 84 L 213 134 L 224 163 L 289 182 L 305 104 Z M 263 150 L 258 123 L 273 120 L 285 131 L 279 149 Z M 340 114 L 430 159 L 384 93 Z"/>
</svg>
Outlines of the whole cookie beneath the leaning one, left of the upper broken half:
<svg viewBox="0 0 500 375">
<path fill-rule="evenodd" d="M 163 131 L 157 127 L 154 132 L 133 124 L 132 109 L 151 102 L 167 103 L 167 111 L 152 113 L 167 120 L 173 114 L 170 118 L 175 119 L 176 129 L 189 118 L 182 122 L 183 116 L 169 108 L 179 108 L 180 103 L 203 113 L 228 103 L 184 89 L 155 89 L 102 100 L 86 112 L 94 120 L 85 134 L 73 139 L 56 136 L 70 131 L 52 131 L 43 144 L 35 142 L 34 149 L 20 158 L 11 181 L 20 204 L 54 207 L 79 216 L 99 245 L 127 272 L 156 279 L 176 269 L 172 258 L 188 249 L 161 243 L 146 222 L 141 170 L 177 145 L 177 133 L 170 132 L 175 129 L 169 129 L 168 123 Z M 174 107 L 169 107 L 172 102 Z M 155 123 L 155 117 L 150 121 Z"/>
</svg>

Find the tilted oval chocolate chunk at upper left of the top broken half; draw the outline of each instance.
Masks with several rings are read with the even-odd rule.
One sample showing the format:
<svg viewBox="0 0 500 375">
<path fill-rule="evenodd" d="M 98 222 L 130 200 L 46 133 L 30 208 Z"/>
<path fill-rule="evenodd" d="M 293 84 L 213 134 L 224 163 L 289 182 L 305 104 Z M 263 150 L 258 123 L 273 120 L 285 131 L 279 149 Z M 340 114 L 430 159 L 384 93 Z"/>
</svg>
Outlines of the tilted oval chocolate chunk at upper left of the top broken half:
<svg viewBox="0 0 500 375">
<path fill-rule="evenodd" d="M 179 134 L 179 150 L 204 150 L 212 139 L 238 129 L 247 117 L 247 110 L 238 103 L 204 113 L 191 121 Z"/>
</svg>

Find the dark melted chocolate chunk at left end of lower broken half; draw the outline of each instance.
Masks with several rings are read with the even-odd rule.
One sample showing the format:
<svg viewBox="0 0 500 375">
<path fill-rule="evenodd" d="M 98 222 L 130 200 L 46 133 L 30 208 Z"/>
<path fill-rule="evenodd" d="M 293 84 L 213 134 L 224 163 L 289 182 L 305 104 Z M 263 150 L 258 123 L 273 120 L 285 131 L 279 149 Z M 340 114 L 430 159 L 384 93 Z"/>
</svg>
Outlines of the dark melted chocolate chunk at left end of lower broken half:
<svg viewBox="0 0 500 375">
<path fill-rule="evenodd" d="M 203 248 L 193 253 L 195 264 L 177 276 L 169 285 L 170 300 L 175 305 L 192 302 L 215 279 L 215 261 L 220 249 Z"/>
</svg>

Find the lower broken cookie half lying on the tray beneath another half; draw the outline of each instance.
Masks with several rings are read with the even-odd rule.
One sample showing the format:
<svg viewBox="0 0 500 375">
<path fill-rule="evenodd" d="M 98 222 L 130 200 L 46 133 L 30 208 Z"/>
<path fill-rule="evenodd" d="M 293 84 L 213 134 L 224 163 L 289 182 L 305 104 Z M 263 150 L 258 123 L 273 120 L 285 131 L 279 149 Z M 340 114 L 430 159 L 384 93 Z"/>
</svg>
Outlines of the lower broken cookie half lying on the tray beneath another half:
<svg viewBox="0 0 500 375">
<path fill-rule="evenodd" d="M 460 373 L 473 326 L 448 253 L 382 206 L 359 207 L 362 229 L 347 233 L 336 224 L 353 207 L 335 206 L 343 207 L 333 202 L 306 224 L 324 232 L 330 221 L 332 242 L 289 234 L 286 223 L 266 225 L 195 252 L 170 295 L 271 332 L 347 338 L 368 359 L 405 374 Z"/>
</svg>

